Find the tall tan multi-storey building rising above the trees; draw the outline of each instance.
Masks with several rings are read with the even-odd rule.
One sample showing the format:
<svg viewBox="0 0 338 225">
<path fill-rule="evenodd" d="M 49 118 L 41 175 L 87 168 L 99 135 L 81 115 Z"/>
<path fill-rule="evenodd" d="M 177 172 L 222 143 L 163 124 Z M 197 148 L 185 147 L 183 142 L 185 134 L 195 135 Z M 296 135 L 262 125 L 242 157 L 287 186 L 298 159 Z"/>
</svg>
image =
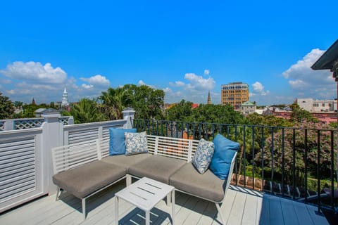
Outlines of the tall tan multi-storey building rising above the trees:
<svg viewBox="0 0 338 225">
<path fill-rule="evenodd" d="M 243 82 L 232 82 L 223 84 L 220 89 L 220 103 L 222 105 L 232 105 L 235 110 L 239 105 L 249 101 L 249 85 Z"/>
</svg>

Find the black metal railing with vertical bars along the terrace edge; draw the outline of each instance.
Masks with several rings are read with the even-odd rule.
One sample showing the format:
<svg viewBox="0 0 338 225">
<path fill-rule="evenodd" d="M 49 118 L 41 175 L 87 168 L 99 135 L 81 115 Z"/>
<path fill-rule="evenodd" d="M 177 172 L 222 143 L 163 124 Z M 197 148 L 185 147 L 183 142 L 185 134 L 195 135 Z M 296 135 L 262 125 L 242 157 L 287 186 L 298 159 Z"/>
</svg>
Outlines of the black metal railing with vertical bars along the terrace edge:
<svg viewBox="0 0 338 225">
<path fill-rule="evenodd" d="M 212 141 L 216 134 L 241 148 L 232 184 L 337 209 L 337 130 L 134 120 L 138 131 Z M 338 191 L 336 191 L 338 192 Z"/>
</svg>

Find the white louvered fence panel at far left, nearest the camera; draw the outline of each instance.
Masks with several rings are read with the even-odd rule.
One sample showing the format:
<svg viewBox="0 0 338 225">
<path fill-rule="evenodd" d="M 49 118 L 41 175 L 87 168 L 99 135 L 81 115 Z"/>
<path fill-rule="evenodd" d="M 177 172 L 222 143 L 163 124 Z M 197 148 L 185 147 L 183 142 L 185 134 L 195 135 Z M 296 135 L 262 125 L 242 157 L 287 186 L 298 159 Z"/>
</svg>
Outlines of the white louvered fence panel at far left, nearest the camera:
<svg viewBox="0 0 338 225">
<path fill-rule="evenodd" d="M 44 195 L 42 128 L 0 133 L 0 212 Z"/>
</svg>

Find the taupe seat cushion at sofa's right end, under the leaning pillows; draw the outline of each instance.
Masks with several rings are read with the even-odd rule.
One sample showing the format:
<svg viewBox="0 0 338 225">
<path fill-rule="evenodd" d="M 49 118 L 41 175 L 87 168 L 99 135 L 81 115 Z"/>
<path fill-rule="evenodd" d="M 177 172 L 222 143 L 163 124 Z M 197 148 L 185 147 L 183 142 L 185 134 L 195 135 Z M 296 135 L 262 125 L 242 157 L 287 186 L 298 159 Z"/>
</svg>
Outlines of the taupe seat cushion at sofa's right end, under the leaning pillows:
<svg viewBox="0 0 338 225">
<path fill-rule="evenodd" d="M 226 181 L 219 179 L 210 169 L 200 174 L 189 162 L 170 176 L 169 184 L 192 195 L 220 202 L 224 197 Z"/>
</svg>

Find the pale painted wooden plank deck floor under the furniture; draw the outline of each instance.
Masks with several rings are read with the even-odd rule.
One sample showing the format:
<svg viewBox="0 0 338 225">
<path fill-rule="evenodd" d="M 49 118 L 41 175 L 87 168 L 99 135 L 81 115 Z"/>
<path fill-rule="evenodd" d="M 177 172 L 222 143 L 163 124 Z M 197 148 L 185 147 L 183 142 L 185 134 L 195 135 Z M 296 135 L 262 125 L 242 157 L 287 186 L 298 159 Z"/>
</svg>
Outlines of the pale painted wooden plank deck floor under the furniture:
<svg viewBox="0 0 338 225">
<path fill-rule="evenodd" d="M 113 224 L 114 193 L 125 187 L 120 182 L 87 200 L 87 219 L 82 221 L 81 201 L 63 193 L 40 198 L 0 215 L 0 224 Z M 220 224 L 213 203 L 176 193 L 176 224 Z M 226 224 L 328 224 L 316 207 L 232 186 L 222 205 Z M 144 212 L 120 200 L 119 224 L 144 224 Z M 165 201 L 151 211 L 151 224 L 171 224 Z"/>
</svg>

